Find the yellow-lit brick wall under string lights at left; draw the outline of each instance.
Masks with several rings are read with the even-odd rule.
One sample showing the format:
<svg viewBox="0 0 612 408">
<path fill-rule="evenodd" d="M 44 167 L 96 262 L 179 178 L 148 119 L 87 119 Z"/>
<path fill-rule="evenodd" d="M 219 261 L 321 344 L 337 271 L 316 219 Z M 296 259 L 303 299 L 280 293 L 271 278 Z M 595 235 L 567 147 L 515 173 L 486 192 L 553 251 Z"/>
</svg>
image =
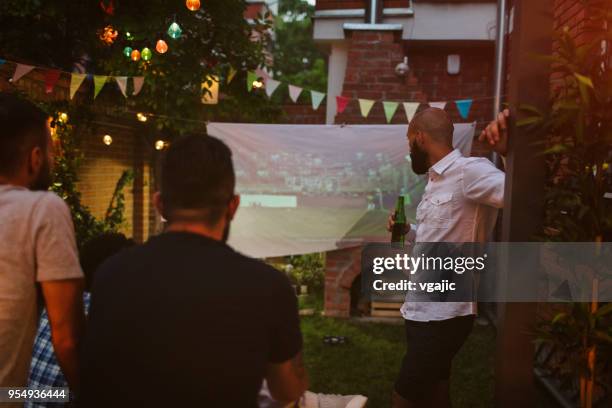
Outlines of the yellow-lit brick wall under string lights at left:
<svg viewBox="0 0 612 408">
<path fill-rule="evenodd" d="M 0 67 L 0 91 L 19 90 L 46 102 L 68 99 L 68 75 L 62 75 L 53 92 L 46 94 L 43 72 L 34 70 L 12 84 L 8 78 L 12 77 L 14 69 L 11 63 Z M 87 84 L 82 85 L 81 93 L 86 94 L 85 98 L 91 98 Z M 79 95 L 75 98 L 78 99 Z M 83 99 L 73 103 L 91 102 Z M 77 187 L 82 194 L 82 203 L 100 219 L 108 208 L 121 173 L 128 169 L 136 170 L 135 182 L 125 189 L 127 222 L 122 232 L 137 241 L 143 241 L 152 232 L 155 219 L 150 202 L 152 148 L 144 142 L 136 129 L 112 122 L 110 119 L 104 121 L 100 117 L 95 118 L 91 129 L 80 135 L 83 161 L 78 172 Z M 102 143 L 105 134 L 113 138 L 110 146 Z"/>
</svg>

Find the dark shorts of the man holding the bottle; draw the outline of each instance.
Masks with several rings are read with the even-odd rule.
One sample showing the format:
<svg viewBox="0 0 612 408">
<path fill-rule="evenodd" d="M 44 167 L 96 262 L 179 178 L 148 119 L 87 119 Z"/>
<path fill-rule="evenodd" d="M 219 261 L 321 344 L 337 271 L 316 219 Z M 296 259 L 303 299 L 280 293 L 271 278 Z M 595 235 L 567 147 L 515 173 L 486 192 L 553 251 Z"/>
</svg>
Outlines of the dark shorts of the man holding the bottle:
<svg viewBox="0 0 612 408">
<path fill-rule="evenodd" d="M 409 401 L 421 400 L 450 377 L 451 363 L 474 323 L 474 316 L 416 322 L 406 320 L 406 355 L 395 391 Z"/>
</svg>

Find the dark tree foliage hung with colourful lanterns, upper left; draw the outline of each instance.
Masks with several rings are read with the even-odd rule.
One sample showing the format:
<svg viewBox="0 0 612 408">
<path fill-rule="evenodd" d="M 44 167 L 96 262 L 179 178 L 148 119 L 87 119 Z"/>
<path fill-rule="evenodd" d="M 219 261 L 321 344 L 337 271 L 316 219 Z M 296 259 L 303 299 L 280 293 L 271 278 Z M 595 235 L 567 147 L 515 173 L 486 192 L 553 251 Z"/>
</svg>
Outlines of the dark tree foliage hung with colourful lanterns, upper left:
<svg viewBox="0 0 612 408">
<path fill-rule="evenodd" d="M 242 72 L 265 63 L 270 16 L 247 22 L 243 17 L 244 0 L 206 0 L 197 12 L 189 11 L 181 1 L 107 0 L 104 4 L 115 5 L 113 15 L 106 14 L 98 3 L 3 1 L 0 56 L 65 71 L 72 71 L 76 62 L 88 61 L 88 72 L 143 75 L 145 86 L 138 97 L 124 102 L 118 89 L 107 85 L 97 103 L 115 110 L 115 114 L 154 114 L 155 120 L 148 123 L 150 130 L 162 132 L 166 139 L 183 132 L 203 131 L 202 121 L 206 120 L 257 122 L 278 116 L 270 102 L 247 92 L 239 76 L 232 86 L 225 86 L 230 66 Z M 178 39 L 166 33 L 173 21 L 182 28 Z M 99 38 L 99 32 L 108 25 L 119 32 L 111 45 Z M 158 39 L 164 39 L 169 47 L 163 55 L 154 51 Z M 139 50 L 148 47 L 153 57 L 149 62 L 135 63 L 123 55 L 126 46 Z M 209 75 L 221 80 L 222 95 L 217 106 L 201 103 L 201 84 Z M 242 86 L 238 86 L 241 80 Z"/>
</svg>

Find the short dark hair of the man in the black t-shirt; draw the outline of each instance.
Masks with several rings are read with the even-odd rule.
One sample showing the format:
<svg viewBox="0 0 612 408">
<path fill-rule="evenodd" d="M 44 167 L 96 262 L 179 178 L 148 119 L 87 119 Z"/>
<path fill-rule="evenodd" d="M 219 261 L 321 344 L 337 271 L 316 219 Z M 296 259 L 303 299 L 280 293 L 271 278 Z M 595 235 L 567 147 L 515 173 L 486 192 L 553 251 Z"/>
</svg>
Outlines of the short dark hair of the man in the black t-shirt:
<svg viewBox="0 0 612 408">
<path fill-rule="evenodd" d="M 163 215 L 170 222 L 216 225 L 235 185 L 232 152 L 225 143 L 212 136 L 185 136 L 171 143 L 162 163 Z M 190 210 L 191 215 L 181 210 Z"/>
</svg>

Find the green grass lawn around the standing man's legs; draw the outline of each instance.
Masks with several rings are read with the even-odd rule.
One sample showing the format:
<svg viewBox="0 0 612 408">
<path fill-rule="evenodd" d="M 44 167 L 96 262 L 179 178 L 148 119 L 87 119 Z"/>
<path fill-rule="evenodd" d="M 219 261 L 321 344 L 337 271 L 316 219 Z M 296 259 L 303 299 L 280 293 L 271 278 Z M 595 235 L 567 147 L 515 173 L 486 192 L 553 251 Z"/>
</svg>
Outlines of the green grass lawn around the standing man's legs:
<svg viewBox="0 0 612 408">
<path fill-rule="evenodd" d="M 393 383 L 404 355 L 403 326 L 316 315 L 302 318 L 302 332 L 311 391 L 362 394 L 369 398 L 371 408 L 391 405 Z M 325 335 L 347 336 L 349 342 L 330 346 L 323 343 Z M 494 348 L 494 330 L 475 326 L 454 361 L 453 407 L 493 406 Z"/>
</svg>

